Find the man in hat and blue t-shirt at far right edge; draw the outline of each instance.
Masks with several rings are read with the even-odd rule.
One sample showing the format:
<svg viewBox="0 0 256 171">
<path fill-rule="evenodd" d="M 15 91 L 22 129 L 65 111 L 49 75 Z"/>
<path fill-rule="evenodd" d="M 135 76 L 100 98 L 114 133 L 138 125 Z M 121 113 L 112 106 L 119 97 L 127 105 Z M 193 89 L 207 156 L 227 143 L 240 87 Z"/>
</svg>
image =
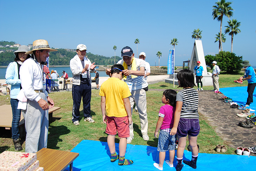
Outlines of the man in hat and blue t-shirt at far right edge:
<svg viewBox="0 0 256 171">
<path fill-rule="evenodd" d="M 256 78 L 255 78 L 255 72 L 254 69 L 251 67 L 251 64 L 249 64 L 248 60 L 244 60 L 241 65 L 245 68 L 245 73 L 243 77 L 240 77 L 240 80 L 247 80 L 248 81 L 248 98 L 245 107 L 249 107 L 250 104 L 253 102 L 253 92 L 256 86 Z"/>
</svg>

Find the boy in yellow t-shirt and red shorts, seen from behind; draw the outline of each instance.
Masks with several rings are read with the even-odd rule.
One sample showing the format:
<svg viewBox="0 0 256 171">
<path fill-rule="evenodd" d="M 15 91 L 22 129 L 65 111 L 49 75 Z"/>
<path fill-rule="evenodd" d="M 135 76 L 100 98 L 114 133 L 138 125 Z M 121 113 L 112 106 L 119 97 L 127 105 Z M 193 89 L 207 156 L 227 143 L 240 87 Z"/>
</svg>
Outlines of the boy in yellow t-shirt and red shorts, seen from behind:
<svg viewBox="0 0 256 171">
<path fill-rule="evenodd" d="M 132 160 L 125 159 L 127 137 L 130 136 L 129 125 L 132 124 L 132 112 L 129 96 L 131 95 L 128 85 L 122 81 L 124 67 L 115 64 L 111 67 L 108 80 L 100 87 L 101 111 L 103 122 L 107 124 L 106 133 L 108 134 L 108 148 L 111 154 L 111 162 L 117 159 L 118 165 L 133 164 Z M 116 131 L 120 138 L 119 156 L 115 151 Z"/>
</svg>

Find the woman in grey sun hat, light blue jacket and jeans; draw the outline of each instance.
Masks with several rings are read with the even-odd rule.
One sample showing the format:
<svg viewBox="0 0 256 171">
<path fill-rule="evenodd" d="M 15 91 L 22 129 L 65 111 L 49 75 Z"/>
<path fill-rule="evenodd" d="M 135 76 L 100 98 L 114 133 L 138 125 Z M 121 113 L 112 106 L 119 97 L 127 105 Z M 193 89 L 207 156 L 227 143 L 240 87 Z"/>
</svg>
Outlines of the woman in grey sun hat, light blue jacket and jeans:
<svg viewBox="0 0 256 171">
<path fill-rule="evenodd" d="M 6 84 L 11 85 L 11 106 L 12 106 L 12 114 L 13 114 L 13 120 L 12 120 L 12 139 L 14 143 L 14 148 L 16 151 L 22 150 L 22 147 L 20 145 L 20 139 L 19 139 L 19 123 L 20 123 L 20 115 L 21 115 L 21 109 L 17 109 L 19 100 L 17 99 L 17 95 L 20 92 L 21 89 L 21 80 L 20 80 L 20 66 L 23 64 L 23 62 L 31 57 L 30 55 L 25 55 L 25 52 L 29 51 L 30 49 L 25 46 L 21 45 L 18 50 L 14 52 L 14 62 L 11 62 L 7 69 L 5 74 L 5 82 Z"/>
</svg>

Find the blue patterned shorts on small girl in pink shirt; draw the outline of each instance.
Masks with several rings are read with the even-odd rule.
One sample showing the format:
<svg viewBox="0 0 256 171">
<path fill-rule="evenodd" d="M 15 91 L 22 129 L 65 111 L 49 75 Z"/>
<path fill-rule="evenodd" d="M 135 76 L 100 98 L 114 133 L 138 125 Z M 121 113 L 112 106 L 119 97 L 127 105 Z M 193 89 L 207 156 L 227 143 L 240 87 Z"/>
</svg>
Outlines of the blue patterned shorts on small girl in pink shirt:
<svg viewBox="0 0 256 171">
<path fill-rule="evenodd" d="M 158 137 L 157 151 L 165 152 L 175 150 L 176 135 L 170 135 L 170 132 L 160 130 Z"/>
</svg>

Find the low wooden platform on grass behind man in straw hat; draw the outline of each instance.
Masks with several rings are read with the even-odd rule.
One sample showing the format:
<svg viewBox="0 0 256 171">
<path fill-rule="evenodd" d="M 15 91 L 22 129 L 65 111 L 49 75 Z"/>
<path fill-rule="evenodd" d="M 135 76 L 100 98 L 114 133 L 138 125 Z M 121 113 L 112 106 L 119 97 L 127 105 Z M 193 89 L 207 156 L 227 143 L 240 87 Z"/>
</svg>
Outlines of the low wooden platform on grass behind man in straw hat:
<svg viewBox="0 0 256 171">
<path fill-rule="evenodd" d="M 52 121 L 53 112 L 60 109 L 60 107 L 53 107 L 49 109 L 49 121 Z M 12 107 L 11 105 L 2 105 L 0 106 L 0 127 L 5 127 L 5 129 L 12 128 Z M 19 127 L 25 123 L 23 115 L 20 116 Z"/>
</svg>

